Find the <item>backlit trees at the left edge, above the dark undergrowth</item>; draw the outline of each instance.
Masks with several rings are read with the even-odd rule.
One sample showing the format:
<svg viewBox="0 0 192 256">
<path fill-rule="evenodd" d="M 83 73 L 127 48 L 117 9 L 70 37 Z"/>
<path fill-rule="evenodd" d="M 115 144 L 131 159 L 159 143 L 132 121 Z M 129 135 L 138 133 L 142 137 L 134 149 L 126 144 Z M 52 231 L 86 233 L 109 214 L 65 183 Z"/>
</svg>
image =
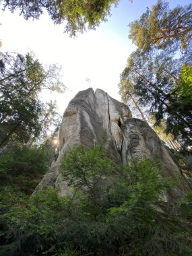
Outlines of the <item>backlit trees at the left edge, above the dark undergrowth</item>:
<svg viewBox="0 0 192 256">
<path fill-rule="evenodd" d="M 43 67 L 30 53 L 5 53 L 1 56 L 0 70 L 0 145 L 5 145 L 11 137 L 26 143 L 32 133 L 40 130 L 40 117 L 45 110 L 40 92 L 65 90 L 59 80 L 61 68 Z"/>
</svg>

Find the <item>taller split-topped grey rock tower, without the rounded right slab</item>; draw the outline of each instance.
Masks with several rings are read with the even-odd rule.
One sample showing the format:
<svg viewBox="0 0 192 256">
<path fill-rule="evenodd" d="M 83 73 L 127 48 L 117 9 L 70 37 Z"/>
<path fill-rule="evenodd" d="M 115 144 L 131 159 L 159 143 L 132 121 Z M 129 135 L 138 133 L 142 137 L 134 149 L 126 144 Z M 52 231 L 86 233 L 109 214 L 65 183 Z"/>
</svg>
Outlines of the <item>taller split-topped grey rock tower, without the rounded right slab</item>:
<svg viewBox="0 0 192 256">
<path fill-rule="evenodd" d="M 123 136 L 119 125 L 129 117 L 131 111 L 128 106 L 111 98 L 106 92 L 100 89 L 94 92 L 92 88 L 79 92 L 63 114 L 59 131 L 59 157 L 36 191 L 57 187 L 61 195 L 70 193 L 66 183 L 61 181 L 59 164 L 63 154 L 77 144 L 93 146 L 105 142 L 112 158 L 120 163 Z"/>
</svg>

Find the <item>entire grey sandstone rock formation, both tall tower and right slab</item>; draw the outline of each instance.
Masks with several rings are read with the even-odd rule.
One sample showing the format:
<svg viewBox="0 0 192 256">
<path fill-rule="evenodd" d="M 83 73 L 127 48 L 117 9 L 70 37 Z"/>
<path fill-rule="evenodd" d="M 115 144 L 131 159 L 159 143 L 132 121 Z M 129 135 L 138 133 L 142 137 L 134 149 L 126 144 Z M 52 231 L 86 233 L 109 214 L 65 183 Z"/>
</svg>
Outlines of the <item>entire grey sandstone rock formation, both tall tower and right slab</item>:
<svg viewBox="0 0 192 256">
<path fill-rule="evenodd" d="M 135 156 L 155 158 L 160 162 L 163 177 L 178 179 L 179 185 L 165 195 L 165 200 L 177 199 L 185 193 L 177 164 L 148 123 L 132 118 L 127 105 L 100 89 L 94 92 L 92 88 L 79 92 L 69 102 L 59 132 L 59 157 L 34 193 L 46 187 L 56 187 L 60 195 L 69 194 L 67 183 L 59 174 L 61 157 L 77 144 L 93 146 L 104 141 L 115 162 L 129 164 Z"/>
</svg>

